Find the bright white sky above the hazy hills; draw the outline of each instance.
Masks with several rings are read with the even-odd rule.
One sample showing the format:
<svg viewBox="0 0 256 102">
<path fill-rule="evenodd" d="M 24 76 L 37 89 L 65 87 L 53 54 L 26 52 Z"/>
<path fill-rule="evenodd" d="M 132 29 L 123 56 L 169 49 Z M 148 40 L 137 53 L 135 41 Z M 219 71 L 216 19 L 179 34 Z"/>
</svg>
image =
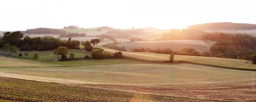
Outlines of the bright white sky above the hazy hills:
<svg viewBox="0 0 256 102">
<path fill-rule="evenodd" d="M 211 22 L 256 24 L 254 0 L 1 0 L 0 30 L 154 27 Z"/>
</svg>

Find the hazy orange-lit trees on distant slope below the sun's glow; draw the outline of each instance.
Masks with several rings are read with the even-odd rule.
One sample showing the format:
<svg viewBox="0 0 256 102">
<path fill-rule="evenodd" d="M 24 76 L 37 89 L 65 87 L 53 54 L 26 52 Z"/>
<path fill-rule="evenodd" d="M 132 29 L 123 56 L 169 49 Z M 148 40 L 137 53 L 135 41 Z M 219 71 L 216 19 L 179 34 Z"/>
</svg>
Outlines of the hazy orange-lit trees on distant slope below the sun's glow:
<svg viewBox="0 0 256 102">
<path fill-rule="evenodd" d="M 178 39 L 190 39 L 190 40 L 201 40 L 201 36 L 205 35 L 206 32 L 195 29 L 171 29 L 168 32 L 163 33 L 161 38 L 155 40 L 178 40 Z"/>
</svg>

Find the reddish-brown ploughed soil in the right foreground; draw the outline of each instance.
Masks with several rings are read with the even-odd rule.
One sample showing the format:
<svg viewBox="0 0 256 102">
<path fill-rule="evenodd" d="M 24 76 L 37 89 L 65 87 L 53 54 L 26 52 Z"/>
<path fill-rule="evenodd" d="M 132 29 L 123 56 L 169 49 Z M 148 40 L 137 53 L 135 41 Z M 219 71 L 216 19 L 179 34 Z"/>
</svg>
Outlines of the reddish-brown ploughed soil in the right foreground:
<svg viewBox="0 0 256 102">
<path fill-rule="evenodd" d="M 79 85 L 81 86 L 81 85 Z M 256 86 L 254 82 L 239 82 L 225 84 L 190 84 L 175 86 L 117 86 L 108 84 L 84 84 L 84 87 L 125 90 L 160 94 L 177 97 L 192 97 L 203 99 L 256 101 Z"/>
</svg>

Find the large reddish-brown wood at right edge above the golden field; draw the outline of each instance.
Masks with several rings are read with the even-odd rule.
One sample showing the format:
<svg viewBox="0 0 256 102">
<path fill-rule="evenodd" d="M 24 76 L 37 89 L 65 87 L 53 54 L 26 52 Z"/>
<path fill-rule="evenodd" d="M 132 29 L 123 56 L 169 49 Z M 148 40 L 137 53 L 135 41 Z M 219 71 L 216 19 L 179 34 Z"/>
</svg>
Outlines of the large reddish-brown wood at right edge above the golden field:
<svg viewBox="0 0 256 102">
<path fill-rule="evenodd" d="M 213 32 L 203 35 L 203 39 L 218 41 L 210 48 L 210 56 L 252 60 L 256 54 L 256 37 L 245 34 Z"/>
</svg>

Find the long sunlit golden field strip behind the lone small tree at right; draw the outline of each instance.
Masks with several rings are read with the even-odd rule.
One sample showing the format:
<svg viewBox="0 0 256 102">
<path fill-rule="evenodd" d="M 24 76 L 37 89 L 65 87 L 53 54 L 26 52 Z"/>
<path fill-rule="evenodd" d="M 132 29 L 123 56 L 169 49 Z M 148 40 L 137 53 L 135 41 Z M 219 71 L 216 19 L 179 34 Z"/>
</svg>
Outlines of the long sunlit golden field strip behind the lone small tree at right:
<svg viewBox="0 0 256 102">
<path fill-rule="evenodd" d="M 106 52 L 115 53 L 117 50 L 107 49 Z M 155 54 L 147 52 L 123 52 L 123 56 L 126 58 L 132 58 L 140 61 L 147 62 L 167 62 L 169 61 L 170 55 L 168 54 Z M 237 69 L 237 70 L 251 70 L 256 71 L 256 65 L 251 61 L 247 60 L 236 60 L 230 58 L 217 58 L 217 57 L 202 57 L 202 56 L 185 56 L 185 55 L 175 55 L 175 62 L 186 62 L 193 64 L 217 66 L 227 69 Z"/>
</svg>

